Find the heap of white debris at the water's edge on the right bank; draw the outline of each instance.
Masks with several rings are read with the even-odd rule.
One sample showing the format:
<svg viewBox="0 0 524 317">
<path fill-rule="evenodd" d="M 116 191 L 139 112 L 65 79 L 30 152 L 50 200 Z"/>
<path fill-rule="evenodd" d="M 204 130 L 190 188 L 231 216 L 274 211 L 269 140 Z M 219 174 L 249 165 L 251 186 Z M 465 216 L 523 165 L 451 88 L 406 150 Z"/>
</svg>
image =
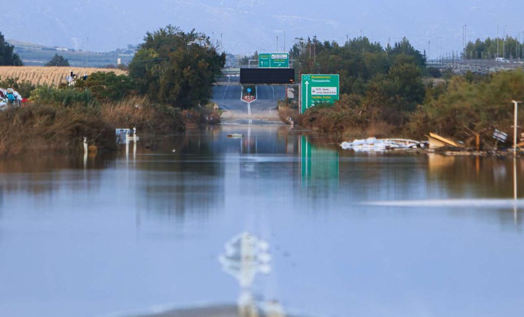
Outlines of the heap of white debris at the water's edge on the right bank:
<svg viewBox="0 0 524 317">
<path fill-rule="evenodd" d="M 344 150 L 359 152 L 384 152 L 391 150 L 413 150 L 424 149 L 425 143 L 408 139 L 360 139 L 353 142 L 342 142 L 340 145 Z"/>
</svg>

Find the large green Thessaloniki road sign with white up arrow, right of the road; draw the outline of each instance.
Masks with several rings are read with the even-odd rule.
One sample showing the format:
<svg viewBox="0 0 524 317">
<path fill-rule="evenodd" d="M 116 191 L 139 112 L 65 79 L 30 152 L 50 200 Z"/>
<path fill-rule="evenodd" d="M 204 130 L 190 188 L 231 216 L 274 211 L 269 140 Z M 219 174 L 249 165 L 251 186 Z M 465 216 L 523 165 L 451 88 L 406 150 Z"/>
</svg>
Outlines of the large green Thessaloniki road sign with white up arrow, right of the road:
<svg viewBox="0 0 524 317">
<path fill-rule="evenodd" d="M 301 113 L 319 103 L 334 103 L 340 97 L 339 75 L 302 75 Z"/>
</svg>

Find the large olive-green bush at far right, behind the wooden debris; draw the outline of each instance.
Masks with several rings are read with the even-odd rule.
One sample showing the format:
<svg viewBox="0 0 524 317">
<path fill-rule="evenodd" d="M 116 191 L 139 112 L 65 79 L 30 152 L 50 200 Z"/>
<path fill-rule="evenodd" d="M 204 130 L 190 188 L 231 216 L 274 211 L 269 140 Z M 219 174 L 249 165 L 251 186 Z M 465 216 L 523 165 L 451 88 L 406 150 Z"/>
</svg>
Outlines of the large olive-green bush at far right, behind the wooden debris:
<svg viewBox="0 0 524 317">
<path fill-rule="evenodd" d="M 406 129 L 422 137 L 436 132 L 463 139 L 471 131 L 497 127 L 512 135 L 512 100 L 524 100 L 524 71 L 504 71 L 479 81 L 468 76 L 452 78 L 443 91 L 429 96 L 411 113 Z M 524 119 L 520 111 L 519 122 Z"/>
</svg>

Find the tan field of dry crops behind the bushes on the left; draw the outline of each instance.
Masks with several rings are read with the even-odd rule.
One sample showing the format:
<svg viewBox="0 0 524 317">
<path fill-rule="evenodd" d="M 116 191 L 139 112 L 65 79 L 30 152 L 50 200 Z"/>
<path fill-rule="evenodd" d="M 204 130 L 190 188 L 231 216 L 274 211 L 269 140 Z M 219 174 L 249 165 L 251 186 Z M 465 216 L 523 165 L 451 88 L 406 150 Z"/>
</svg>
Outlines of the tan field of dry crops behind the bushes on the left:
<svg viewBox="0 0 524 317">
<path fill-rule="evenodd" d="M 68 76 L 71 71 L 79 77 L 97 71 L 114 71 L 117 75 L 126 73 L 123 70 L 108 68 L 0 66 L 0 78 L 18 78 L 19 80 L 30 81 L 33 84 L 59 84 L 65 82 L 65 76 Z"/>
</svg>

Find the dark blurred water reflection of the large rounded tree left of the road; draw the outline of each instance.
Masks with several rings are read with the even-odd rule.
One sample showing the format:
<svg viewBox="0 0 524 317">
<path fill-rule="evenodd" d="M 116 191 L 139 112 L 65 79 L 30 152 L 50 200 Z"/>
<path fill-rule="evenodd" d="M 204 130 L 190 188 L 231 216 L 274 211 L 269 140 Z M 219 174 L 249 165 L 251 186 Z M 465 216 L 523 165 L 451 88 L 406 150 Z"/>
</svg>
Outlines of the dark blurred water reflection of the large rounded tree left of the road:
<svg viewBox="0 0 524 317">
<path fill-rule="evenodd" d="M 137 168 L 141 186 L 138 204 L 147 213 L 183 217 L 206 215 L 224 205 L 224 168 L 213 134 L 188 132 L 163 138 L 163 156 L 143 156 Z M 176 152 L 171 152 L 174 149 Z"/>
</svg>

